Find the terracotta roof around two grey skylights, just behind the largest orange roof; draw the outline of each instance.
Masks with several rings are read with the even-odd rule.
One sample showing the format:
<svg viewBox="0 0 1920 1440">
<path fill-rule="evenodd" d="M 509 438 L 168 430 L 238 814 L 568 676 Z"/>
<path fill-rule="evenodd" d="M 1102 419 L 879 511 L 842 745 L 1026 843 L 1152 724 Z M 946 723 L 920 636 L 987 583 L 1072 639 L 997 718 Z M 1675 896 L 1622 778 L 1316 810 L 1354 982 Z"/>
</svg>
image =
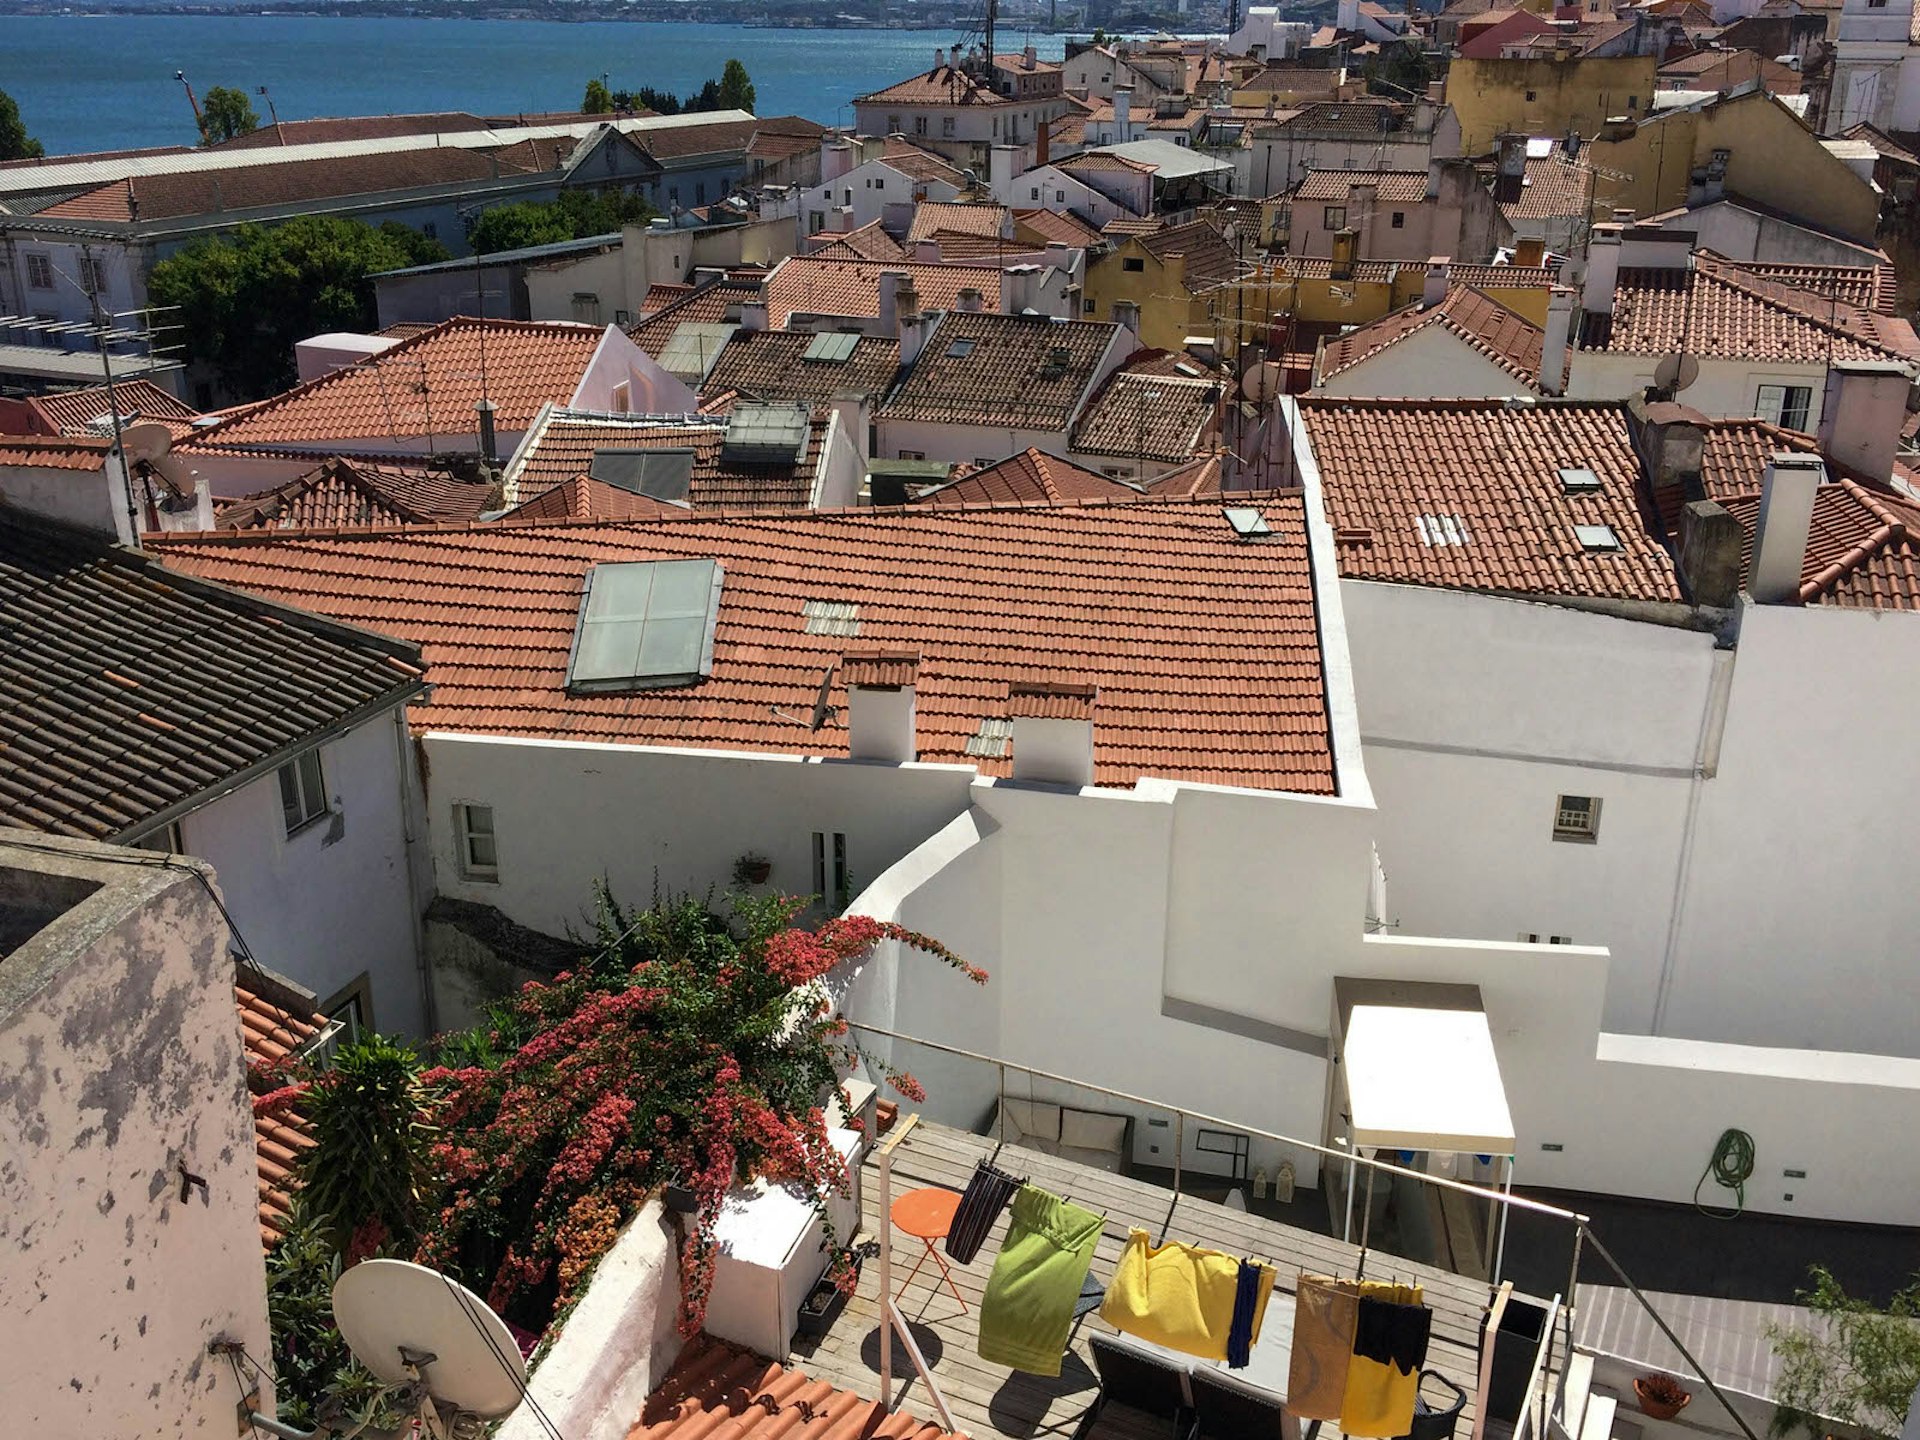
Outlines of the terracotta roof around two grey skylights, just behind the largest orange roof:
<svg viewBox="0 0 1920 1440">
<path fill-rule="evenodd" d="M 516 518 L 555 518 L 557 515 L 618 516 L 628 513 L 655 515 L 659 505 L 620 505 L 611 495 L 588 490 L 566 503 L 553 501 L 528 513 L 530 499 L 593 468 L 601 449 L 691 449 L 693 474 L 687 505 L 693 509 L 739 505 L 749 509 L 793 509 L 812 501 L 814 470 L 820 465 L 831 411 L 812 413 L 806 447 L 787 465 L 743 463 L 726 453 L 726 417 L 687 417 L 662 420 L 555 407 L 528 430 L 520 449 L 507 463 L 509 497 L 520 505 Z M 576 488 L 578 492 L 578 488 Z M 641 497 L 645 499 L 645 497 Z M 685 505 L 672 507 L 685 511 Z"/>
</svg>

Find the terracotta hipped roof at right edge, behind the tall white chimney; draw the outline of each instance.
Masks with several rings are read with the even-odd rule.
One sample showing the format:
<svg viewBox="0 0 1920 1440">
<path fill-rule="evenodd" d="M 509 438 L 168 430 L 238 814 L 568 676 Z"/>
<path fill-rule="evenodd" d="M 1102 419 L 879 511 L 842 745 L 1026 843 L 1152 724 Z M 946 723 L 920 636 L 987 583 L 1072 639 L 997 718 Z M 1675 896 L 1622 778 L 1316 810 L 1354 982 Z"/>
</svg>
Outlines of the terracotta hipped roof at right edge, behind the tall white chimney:
<svg viewBox="0 0 1920 1440">
<path fill-rule="evenodd" d="M 1741 572 L 1753 570 L 1761 495 L 1720 501 L 1745 532 Z M 1820 486 L 1801 570 L 1803 605 L 1920 611 L 1920 503 L 1885 486 L 1837 478 Z"/>
</svg>

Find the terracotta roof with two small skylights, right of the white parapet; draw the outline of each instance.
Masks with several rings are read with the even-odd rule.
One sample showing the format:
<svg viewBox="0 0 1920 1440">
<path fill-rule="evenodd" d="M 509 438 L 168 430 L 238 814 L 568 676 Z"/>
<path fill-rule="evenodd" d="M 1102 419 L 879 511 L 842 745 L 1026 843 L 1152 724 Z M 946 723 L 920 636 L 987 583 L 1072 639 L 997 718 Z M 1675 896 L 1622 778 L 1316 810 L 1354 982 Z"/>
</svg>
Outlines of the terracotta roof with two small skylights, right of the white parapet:
<svg viewBox="0 0 1920 1440">
<path fill-rule="evenodd" d="M 1300 415 L 1350 580 L 1684 601 L 1619 403 L 1309 396 Z M 1597 488 L 1569 492 L 1563 467 Z M 1574 526 L 1609 526 L 1619 549 Z"/>
</svg>

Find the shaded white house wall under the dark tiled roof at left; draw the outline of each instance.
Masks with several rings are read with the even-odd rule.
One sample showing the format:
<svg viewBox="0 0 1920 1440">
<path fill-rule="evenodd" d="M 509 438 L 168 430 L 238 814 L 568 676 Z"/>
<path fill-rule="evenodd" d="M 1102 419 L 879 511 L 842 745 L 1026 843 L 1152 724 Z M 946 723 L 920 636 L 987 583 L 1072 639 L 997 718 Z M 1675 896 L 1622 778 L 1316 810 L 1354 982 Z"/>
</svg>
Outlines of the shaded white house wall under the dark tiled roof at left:
<svg viewBox="0 0 1920 1440">
<path fill-rule="evenodd" d="M 321 1000 L 367 972 L 372 1023 L 419 1035 L 415 906 L 409 895 L 401 753 L 392 712 L 321 747 L 321 774 L 340 818 L 286 833 L 276 776 L 255 780 L 180 822 L 188 854 L 213 864 L 234 924 L 259 962 Z"/>
</svg>

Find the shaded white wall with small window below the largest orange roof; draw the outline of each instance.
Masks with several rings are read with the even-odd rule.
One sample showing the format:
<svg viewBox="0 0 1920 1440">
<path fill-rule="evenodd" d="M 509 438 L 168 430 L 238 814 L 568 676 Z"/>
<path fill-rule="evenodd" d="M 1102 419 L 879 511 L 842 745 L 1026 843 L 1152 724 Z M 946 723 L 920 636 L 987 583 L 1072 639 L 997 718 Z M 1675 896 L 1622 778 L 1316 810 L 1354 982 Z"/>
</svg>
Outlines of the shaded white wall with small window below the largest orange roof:
<svg viewBox="0 0 1920 1440">
<path fill-rule="evenodd" d="M 795 726 L 795 733 L 804 733 Z M 430 733 L 426 791 L 442 895 L 559 935 L 593 910 L 605 876 L 624 904 L 655 883 L 705 895 L 733 860 L 772 862 L 768 889 L 812 891 L 812 835 L 847 835 L 858 893 L 966 808 L 973 770 Z M 453 806 L 492 804 L 499 881 L 465 879 Z"/>
</svg>

